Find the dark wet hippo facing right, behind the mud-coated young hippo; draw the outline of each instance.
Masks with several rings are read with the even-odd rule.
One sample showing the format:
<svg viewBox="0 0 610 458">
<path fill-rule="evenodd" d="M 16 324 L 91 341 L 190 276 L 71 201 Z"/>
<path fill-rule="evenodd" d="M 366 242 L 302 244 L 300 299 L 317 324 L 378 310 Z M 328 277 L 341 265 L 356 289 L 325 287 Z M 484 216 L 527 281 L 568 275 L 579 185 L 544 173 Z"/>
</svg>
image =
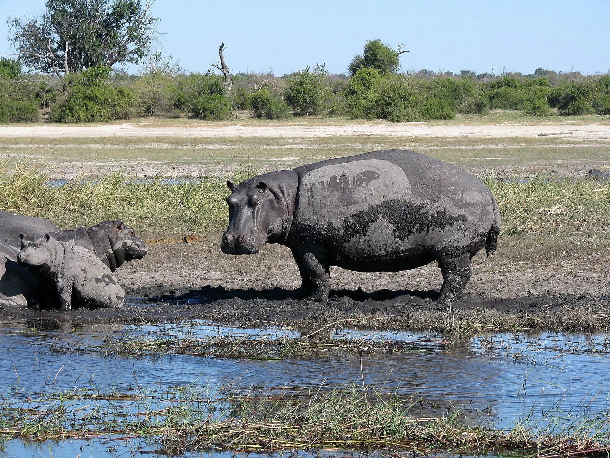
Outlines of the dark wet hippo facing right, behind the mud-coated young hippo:
<svg viewBox="0 0 610 458">
<path fill-rule="evenodd" d="M 104 221 L 88 229 L 49 232 L 59 241 L 73 241 L 90 250 L 114 272 L 125 261 L 142 259 L 148 253 L 146 245 L 122 220 Z"/>
</svg>

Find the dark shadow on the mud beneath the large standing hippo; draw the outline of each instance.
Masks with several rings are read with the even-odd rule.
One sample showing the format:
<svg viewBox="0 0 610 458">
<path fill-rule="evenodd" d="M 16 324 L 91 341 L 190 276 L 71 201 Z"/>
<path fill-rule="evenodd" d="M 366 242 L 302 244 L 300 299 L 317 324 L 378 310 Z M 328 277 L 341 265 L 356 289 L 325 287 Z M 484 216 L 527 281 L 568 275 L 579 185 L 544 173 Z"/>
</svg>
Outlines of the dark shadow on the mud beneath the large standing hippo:
<svg viewBox="0 0 610 458">
<path fill-rule="evenodd" d="M 203 286 L 199 289 L 192 289 L 182 294 L 161 294 L 159 296 L 147 297 L 146 302 L 169 302 L 170 304 L 213 304 L 220 300 L 294 300 L 300 299 L 299 289 L 229 289 L 224 286 Z M 439 296 L 436 290 L 431 291 L 409 291 L 409 290 L 390 290 L 387 288 L 380 289 L 367 293 L 362 291 L 362 288 L 356 290 L 351 289 L 332 289 L 329 300 L 337 302 L 345 302 L 352 300 L 354 302 L 365 302 L 367 300 L 388 301 L 393 302 L 421 302 L 425 299 L 434 300 Z"/>
</svg>

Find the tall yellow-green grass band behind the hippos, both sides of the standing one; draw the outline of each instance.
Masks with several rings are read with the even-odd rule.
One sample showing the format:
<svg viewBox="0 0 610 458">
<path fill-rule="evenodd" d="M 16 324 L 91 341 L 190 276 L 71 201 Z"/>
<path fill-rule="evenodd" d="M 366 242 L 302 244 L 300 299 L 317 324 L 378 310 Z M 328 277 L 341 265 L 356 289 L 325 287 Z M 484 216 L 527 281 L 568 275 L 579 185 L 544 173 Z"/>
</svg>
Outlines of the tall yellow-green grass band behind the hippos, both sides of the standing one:
<svg viewBox="0 0 610 458">
<path fill-rule="evenodd" d="M 0 163 L 0 209 L 49 219 L 60 227 L 78 227 L 124 218 L 146 235 L 195 231 L 217 234 L 228 218 L 224 180 L 138 180 L 112 173 L 80 176 L 51 186 L 51 165 L 24 160 Z M 256 171 L 241 169 L 241 181 Z M 594 180 L 544 177 L 525 183 L 484 178 L 498 200 L 504 237 L 576 236 L 608 239 L 610 184 Z"/>
</svg>

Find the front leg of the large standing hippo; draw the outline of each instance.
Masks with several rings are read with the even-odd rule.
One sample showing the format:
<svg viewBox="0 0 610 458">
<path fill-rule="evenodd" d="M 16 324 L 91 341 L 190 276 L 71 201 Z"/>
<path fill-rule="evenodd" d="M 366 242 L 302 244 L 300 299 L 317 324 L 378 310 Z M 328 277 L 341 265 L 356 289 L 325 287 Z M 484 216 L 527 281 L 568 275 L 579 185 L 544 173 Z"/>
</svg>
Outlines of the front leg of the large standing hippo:
<svg viewBox="0 0 610 458">
<path fill-rule="evenodd" d="M 311 247 L 293 249 L 292 255 L 301 274 L 301 296 L 314 300 L 328 299 L 331 274 L 326 256 Z"/>
</svg>

